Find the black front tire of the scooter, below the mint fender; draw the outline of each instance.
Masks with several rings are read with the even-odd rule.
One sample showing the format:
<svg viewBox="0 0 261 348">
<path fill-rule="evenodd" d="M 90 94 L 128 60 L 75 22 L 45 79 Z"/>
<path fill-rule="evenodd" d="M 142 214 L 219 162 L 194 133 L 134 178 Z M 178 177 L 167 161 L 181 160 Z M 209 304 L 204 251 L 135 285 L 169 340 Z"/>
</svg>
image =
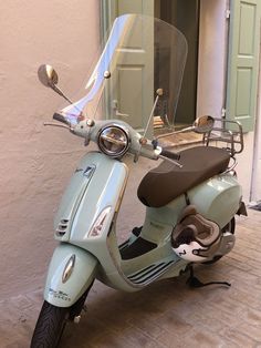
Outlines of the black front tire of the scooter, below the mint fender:
<svg viewBox="0 0 261 348">
<path fill-rule="evenodd" d="M 70 315 L 70 308 L 43 303 L 31 340 L 31 348 L 56 348 Z"/>
</svg>

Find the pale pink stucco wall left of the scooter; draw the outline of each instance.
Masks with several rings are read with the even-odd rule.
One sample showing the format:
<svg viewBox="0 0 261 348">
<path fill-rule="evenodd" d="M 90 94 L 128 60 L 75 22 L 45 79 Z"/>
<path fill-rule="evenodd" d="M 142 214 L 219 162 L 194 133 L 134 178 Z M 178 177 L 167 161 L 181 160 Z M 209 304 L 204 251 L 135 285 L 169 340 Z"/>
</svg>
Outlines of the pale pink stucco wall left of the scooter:
<svg viewBox="0 0 261 348">
<path fill-rule="evenodd" d="M 42 283 L 53 212 L 82 141 L 44 127 L 61 98 L 38 82 L 49 62 L 72 95 L 97 48 L 96 0 L 0 2 L 0 299 Z"/>
</svg>

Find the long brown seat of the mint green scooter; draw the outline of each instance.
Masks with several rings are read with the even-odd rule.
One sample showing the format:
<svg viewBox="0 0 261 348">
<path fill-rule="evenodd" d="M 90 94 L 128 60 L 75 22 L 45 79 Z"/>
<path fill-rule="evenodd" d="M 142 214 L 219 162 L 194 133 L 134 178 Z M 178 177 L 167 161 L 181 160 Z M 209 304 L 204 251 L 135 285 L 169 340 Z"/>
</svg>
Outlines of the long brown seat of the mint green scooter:
<svg viewBox="0 0 261 348">
<path fill-rule="evenodd" d="M 160 207 L 203 181 L 227 170 L 230 155 L 219 147 L 198 146 L 181 151 L 179 168 L 164 161 L 149 171 L 138 187 L 138 198 L 147 206 Z"/>
</svg>

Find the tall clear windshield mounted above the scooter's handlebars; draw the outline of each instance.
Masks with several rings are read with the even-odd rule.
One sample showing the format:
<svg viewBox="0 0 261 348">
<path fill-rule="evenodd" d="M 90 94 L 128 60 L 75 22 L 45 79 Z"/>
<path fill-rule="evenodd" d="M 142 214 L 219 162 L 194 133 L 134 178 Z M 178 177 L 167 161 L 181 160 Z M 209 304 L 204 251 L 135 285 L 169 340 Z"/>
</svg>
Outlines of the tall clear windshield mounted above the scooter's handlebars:
<svg viewBox="0 0 261 348">
<path fill-rule="evenodd" d="M 80 100 L 59 113 L 72 126 L 84 119 L 117 119 L 144 132 L 149 116 L 156 129 L 170 126 L 186 57 L 186 39 L 173 25 L 139 14 L 121 16 Z"/>
</svg>

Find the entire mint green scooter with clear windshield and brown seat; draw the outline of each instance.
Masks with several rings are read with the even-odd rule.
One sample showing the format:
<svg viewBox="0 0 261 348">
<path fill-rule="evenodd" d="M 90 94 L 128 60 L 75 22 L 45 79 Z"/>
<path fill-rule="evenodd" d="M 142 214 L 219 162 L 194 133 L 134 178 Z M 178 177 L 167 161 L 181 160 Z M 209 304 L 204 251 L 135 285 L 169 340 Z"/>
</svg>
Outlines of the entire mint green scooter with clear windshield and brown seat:
<svg viewBox="0 0 261 348">
<path fill-rule="evenodd" d="M 67 103 L 53 115 L 61 123 L 46 125 L 64 127 L 97 150 L 80 161 L 56 213 L 59 245 L 31 347 L 59 345 L 65 323 L 80 320 L 95 279 L 137 291 L 233 248 L 234 215 L 246 214 L 233 170 L 234 155 L 243 150 L 242 129 L 211 116 L 174 127 L 186 54 L 186 39 L 173 25 L 125 14 L 115 20 L 76 102 L 58 86 L 51 65 L 40 66 L 40 81 Z M 203 144 L 179 153 L 164 146 L 189 131 L 202 134 Z M 210 145 L 223 142 L 225 147 Z M 118 245 L 116 219 L 129 156 L 136 165 L 139 156 L 159 165 L 137 188 L 146 208 L 143 226 Z"/>
</svg>

